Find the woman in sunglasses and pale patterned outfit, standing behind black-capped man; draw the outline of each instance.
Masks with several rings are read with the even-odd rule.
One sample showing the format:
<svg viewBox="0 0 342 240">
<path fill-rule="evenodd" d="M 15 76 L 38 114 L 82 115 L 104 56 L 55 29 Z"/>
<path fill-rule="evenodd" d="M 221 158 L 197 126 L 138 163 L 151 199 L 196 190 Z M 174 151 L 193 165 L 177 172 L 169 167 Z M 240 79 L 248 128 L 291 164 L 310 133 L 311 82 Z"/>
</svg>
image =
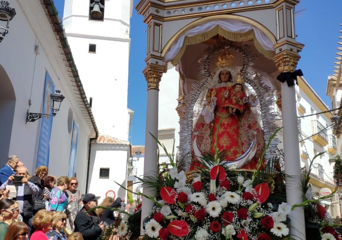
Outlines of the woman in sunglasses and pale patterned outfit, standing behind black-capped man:
<svg viewBox="0 0 342 240">
<path fill-rule="evenodd" d="M 78 187 L 77 178 L 71 177 L 69 178 L 69 187 L 66 190 L 68 194 L 68 212 L 67 212 L 67 219 L 66 219 L 66 228 L 69 232 L 73 232 L 75 230 L 74 221 L 77 213 L 81 211 L 82 204 L 81 202 L 81 193 L 76 188 Z M 72 201 L 74 200 L 74 201 Z"/>
</svg>

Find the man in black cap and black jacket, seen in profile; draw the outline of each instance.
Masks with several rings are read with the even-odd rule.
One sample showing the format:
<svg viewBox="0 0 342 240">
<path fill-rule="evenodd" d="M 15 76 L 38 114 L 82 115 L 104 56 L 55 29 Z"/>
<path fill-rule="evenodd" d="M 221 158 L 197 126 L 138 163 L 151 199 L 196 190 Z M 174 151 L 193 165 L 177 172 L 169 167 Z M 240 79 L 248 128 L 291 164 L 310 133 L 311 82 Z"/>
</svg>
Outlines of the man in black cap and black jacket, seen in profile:
<svg viewBox="0 0 342 240">
<path fill-rule="evenodd" d="M 83 196 L 83 208 L 76 215 L 74 224 L 75 232 L 80 232 L 84 240 L 95 240 L 101 236 L 102 230 L 104 230 L 107 225 L 102 224 L 98 221 L 98 217 L 95 213 L 86 213 L 89 209 L 97 206 L 97 200 L 100 197 L 95 196 L 92 193 L 87 193 Z"/>
</svg>

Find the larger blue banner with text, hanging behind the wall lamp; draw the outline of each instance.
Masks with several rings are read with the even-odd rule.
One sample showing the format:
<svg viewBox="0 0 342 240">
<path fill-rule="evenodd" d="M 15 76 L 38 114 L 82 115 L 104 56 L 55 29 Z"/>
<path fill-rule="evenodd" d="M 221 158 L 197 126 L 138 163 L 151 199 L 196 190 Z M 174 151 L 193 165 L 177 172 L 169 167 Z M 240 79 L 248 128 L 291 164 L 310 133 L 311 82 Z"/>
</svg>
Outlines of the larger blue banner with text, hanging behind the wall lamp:
<svg viewBox="0 0 342 240">
<path fill-rule="evenodd" d="M 55 92 L 55 86 L 48 72 L 45 74 L 45 91 L 42 113 L 52 114 L 50 94 Z M 39 166 L 49 167 L 50 138 L 53 117 L 43 117 L 40 125 L 39 145 L 36 168 Z"/>
</svg>

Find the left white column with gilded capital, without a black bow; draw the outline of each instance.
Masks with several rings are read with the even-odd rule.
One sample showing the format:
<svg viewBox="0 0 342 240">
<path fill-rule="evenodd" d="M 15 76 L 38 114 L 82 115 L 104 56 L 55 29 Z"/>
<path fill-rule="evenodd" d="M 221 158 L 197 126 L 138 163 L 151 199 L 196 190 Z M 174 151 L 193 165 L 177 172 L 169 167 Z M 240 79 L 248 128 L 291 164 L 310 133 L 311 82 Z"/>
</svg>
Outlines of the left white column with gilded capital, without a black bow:
<svg viewBox="0 0 342 240">
<path fill-rule="evenodd" d="M 145 157 L 144 157 L 144 177 L 156 177 L 158 172 L 157 159 L 157 142 L 151 134 L 158 136 L 158 100 L 159 100 L 159 82 L 163 75 L 164 67 L 150 63 L 147 65 L 143 74 L 147 82 L 147 109 L 146 109 L 146 133 L 145 133 Z M 150 134 L 151 133 L 151 134 Z M 145 188 L 143 193 L 147 196 L 156 196 L 156 190 Z M 143 220 L 150 213 L 153 202 L 145 197 L 142 197 L 141 209 L 141 226 L 140 233 L 144 235 Z"/>
</svg>

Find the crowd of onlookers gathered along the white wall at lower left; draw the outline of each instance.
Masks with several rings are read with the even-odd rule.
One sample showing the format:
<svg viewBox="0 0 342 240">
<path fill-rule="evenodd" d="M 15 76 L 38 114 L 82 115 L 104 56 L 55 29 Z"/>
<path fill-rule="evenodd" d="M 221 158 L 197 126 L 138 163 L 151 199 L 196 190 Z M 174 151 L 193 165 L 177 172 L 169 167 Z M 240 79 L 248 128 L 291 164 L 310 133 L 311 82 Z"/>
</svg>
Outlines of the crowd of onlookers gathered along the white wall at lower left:
<svg viewBox="0 0 342 240">
<path fill-rule="evenodd" d="M 117 215 L 91 208 L 99 196 L 81 197 L 76 177 L 48 175 L 40 166 L 30 176 L 18 156 L 0 169 L 0 240 L 96 240 Z M 123 208 L 124 200 L 105 197 L 101 206 Z"/>
</svg>

